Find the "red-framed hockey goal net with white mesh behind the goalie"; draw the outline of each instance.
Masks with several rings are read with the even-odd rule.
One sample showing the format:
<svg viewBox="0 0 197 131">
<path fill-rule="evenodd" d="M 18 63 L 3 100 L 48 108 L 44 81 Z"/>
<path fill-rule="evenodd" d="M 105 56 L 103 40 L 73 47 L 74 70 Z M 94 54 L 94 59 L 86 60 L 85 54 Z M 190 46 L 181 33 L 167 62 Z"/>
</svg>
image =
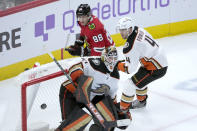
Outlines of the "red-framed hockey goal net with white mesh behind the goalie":
<svg viewBox="0 0 197 131">
<path fill-rule="evenodd" d="M 67 68 L 69 59 L 59 63 Z M 58 66 L 52 62 L 24 71 L 16 77 L 21 86 L 21 122 L 17 130 L 33 130 L 34 123 L 45 122 L 55 128 L 61 121 L 59 89 L 67 80 Z"/>
</svg>

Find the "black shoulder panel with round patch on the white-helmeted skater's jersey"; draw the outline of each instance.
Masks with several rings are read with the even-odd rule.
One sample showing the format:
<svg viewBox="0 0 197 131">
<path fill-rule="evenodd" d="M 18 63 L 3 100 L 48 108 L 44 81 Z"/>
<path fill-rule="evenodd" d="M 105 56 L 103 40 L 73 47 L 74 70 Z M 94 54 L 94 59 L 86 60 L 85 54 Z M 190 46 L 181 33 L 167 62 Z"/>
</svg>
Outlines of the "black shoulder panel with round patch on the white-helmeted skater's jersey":
<svg viewBox="0 0 197 131">
<path fill-rule="evenodd" d="M 128 39 L 123 47 L 124 54 L 127 54 L 133 48 L 137 34 L 138 34 L 138 27 L 135 26 L 132 34 L 128 37 Z"/>
</svg>

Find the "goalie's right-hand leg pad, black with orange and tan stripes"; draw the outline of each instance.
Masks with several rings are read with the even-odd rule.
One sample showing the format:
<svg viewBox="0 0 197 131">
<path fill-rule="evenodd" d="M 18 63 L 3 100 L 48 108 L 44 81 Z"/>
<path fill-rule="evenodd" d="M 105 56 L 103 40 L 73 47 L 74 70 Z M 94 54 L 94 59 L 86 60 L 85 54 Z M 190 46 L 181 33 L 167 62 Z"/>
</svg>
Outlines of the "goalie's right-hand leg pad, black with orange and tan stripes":
<svg viewBox="0 0 197 131">
<path fill-rule="evenodd" d="M 91 125 L 89 131 L 103 131 L 103 130 L 109 130 L 113 131 L 115 127 L 126 129 L 128 125 L 130 124 L 131 119 L 128 117 L 120 117 L 119 111 L 114 103 L 114 101 L 111 99 L 110 96 L 96 96 L 92 100 L 92 103 L 96 105 L 96 108 L 101 113 L 101 115 L 104 117 L 106 123 L 108 123 L 108 127 L 104 129 L 97 119 L 94 119 L 94 124 Z M 121 115 L 123 116 L 123 115 Z M 126 122 L 126 123 L 125 123 Z"/>
</svg>

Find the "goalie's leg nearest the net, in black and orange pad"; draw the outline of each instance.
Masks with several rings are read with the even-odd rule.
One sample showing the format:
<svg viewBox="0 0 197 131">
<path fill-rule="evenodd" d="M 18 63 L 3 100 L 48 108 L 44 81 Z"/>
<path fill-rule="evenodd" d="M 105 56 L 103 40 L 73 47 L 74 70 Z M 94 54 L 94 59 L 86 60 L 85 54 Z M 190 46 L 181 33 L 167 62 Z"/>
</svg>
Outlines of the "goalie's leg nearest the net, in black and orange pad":
<svg viewBox="0 0 197 131">
<path fill-rule="evenodd" d="M 73 92 L 74 86 L 69 81 L 61 85 L 59 100 L 62 114 L 62 123 L 56 131 L 78 130 L 82 131 L 91 121 L 92 117 L 83 111 L 84 104 L 77 103 Z"/>
</svg>

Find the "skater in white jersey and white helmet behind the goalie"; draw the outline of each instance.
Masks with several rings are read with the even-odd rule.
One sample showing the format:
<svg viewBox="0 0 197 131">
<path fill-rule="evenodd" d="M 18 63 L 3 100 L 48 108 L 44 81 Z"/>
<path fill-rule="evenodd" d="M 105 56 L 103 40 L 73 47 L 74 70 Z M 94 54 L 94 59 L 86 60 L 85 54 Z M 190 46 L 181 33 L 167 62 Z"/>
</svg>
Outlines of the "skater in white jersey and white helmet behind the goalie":
<svg viewBox="0 0 197 131">
<path fill-rule="evenodd" d="M 117 30 L 122 38 L 127 40 L 123 47 L 126 61 L 119 66 L 124 72 L 135 73 L 123 90 L 121 108 L 145 107 L 147 85 L 166 74 L 168 66 L 166 56 L 152 36 L 143 28 L 134 26 L 131 18 L 121 18 L 117 24 Z M 138 69 L 139 63 L 141 66 Z M 136 89 L 137 97 L 133 102 L 131 101 L 135 92 L 132 88 Z"/>
</svg>

